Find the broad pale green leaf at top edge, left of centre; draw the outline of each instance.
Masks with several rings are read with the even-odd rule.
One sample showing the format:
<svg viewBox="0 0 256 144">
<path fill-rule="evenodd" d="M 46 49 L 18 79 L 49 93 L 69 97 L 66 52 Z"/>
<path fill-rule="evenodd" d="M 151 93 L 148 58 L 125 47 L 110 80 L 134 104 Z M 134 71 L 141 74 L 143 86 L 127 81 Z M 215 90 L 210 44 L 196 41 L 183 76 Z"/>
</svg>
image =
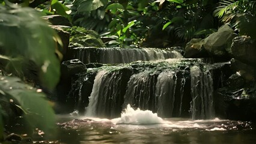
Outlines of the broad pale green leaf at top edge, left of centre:
<svg viewBox="0 0 256 144">
<path fill-rule="evenodd" d="M 107 0 L 84 0 L 78 6 L 78 12 L 93 11 L 108 4 Z"/>
</svg>

